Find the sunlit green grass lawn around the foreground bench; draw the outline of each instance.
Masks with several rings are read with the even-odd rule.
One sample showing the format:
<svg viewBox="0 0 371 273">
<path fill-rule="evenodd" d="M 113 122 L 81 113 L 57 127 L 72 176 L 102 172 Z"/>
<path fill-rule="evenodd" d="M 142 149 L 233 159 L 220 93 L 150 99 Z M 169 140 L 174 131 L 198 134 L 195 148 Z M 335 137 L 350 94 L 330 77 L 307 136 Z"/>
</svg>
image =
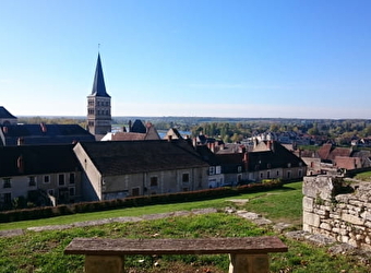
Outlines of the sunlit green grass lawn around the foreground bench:
<svg viewBox="0 0 371 273">
<path fill-rule="evenodd" d="M 67 224 L 72 222 L 139 216 L 203 207 L 231 205 L 229 199 L 249 199 L 240 206 L 262 213 L 275 222 L 295 223 L 301 219 L 301 183 L 289 183 L 283 189 L 236 198 L 207 200 L 169 205 L 153 205 L 115 210 L 100 213 L 69 215 L 58 218 L 1 224 L 2 229 L 36 225 Z M 82 256 L 64 256 L 63 249 L 75 237 L 105 238 L 208 238 L 274 235 L 270 228 L 260 228 L 235 214 L 212 213 L 143 221 L 136 223 L 111 223 L 94 227 L 76 227 L 60 232 L 26 232 L 23 236 L 0 238 L 0 272 L 83 272 Z M 326 272 L 366 273 L 370 269 L 351 257 L 330 256 L 325 248 L 282 237 L 289 247 L 287 253 L 272 254 L 271 270 L 278 273 Z M 160 266 L 153 266 L 154 262 Z M 228 271 L 228 256 L 163 256 L 127 257 L 128 272 L 211 272 Z"/>
</svg>

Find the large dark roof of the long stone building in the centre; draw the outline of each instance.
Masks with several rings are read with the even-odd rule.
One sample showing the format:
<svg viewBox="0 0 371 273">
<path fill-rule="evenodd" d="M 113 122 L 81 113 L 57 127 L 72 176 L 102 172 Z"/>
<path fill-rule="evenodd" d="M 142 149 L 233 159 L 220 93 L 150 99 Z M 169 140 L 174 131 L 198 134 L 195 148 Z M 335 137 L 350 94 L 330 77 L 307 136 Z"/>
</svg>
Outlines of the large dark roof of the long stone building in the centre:
<svg viewBox="0 0 371 273">
<path fill-rule="evenodd" d="M 103 176 L 208 167 L 184 140 L 80 143 Z"/>
</svg>

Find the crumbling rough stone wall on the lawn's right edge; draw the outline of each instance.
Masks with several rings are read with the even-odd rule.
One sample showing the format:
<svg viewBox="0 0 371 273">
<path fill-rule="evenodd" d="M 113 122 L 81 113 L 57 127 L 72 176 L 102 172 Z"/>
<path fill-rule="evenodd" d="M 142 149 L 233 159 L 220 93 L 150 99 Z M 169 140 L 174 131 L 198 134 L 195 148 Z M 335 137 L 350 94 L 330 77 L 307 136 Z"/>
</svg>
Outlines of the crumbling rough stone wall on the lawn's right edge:
<svg viewBox="0 0 371 273">
<path fill-rule="evenodd" d="M 303 230 L 371 250 L 371 182 L 304 177 Z"/>
</svg>

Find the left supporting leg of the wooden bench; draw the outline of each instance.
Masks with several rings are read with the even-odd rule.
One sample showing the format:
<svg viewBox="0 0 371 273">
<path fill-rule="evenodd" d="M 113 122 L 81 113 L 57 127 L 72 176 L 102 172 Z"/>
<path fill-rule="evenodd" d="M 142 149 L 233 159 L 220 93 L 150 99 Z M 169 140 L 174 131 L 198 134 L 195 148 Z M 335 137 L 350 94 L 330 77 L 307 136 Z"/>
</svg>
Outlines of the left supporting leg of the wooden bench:
<svg viewBox="0 0 371 273">
<path fill-rule="evenodd" d="M 123 273 L 123 257 L 86 256 L 85 273 Z"/>
</svg>

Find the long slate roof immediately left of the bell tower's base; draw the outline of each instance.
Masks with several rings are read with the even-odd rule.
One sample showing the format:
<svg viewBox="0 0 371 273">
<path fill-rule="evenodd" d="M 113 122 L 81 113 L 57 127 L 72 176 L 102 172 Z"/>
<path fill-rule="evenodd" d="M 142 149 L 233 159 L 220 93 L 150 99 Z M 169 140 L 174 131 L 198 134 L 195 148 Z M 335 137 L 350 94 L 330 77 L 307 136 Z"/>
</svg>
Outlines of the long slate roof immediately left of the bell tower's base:
<svg viewBox="0 0 371 273">
<path fill-rule="evenodd" d="M 95 141 L 93 134 L 79 124 L 10 124 L 0 126 L 5 145 L 16 145 L 19 138 L 25 145 L 70 144 L 76 141 Z"/>
</svg>

